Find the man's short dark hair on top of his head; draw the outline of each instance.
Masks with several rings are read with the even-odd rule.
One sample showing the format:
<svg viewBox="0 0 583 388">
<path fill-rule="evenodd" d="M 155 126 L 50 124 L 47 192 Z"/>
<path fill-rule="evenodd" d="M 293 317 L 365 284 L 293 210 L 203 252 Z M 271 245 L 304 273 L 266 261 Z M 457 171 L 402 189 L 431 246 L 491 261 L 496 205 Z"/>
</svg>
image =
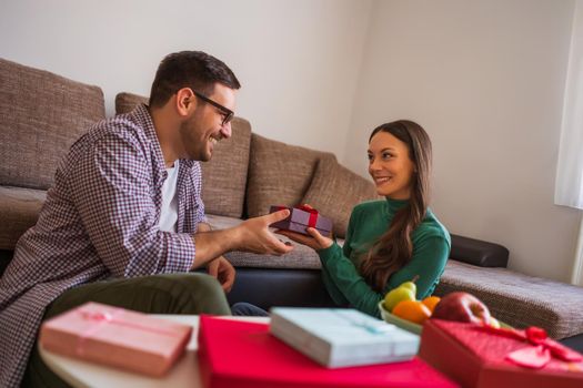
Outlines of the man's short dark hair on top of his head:
<svg viewBox="0 0 583 388">
<path fill-rule="evenodd" d="M 150 106 L 164 105 L 182 88 L 211 94 L 217 82 L 231 89 L 241 88 L 232 70 L 217 58 L 202 51 L 174 52 L 158 67 L 150 91 Z"/>
</svg>

